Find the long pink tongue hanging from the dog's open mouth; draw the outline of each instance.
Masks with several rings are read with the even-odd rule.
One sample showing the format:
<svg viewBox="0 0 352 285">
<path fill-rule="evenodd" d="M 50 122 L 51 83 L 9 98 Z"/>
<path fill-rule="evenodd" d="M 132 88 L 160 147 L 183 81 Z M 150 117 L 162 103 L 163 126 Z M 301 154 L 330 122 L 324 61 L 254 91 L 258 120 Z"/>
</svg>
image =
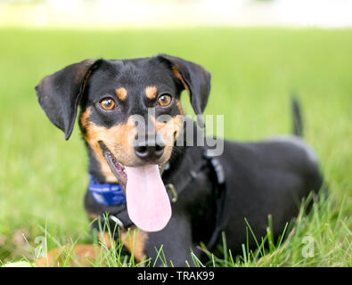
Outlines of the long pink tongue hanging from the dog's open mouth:
<svg viewBox="0 0 352 285">
<path fill-rule="evenodd" d="M 162 230 L 171 217 L 171 205 L 159 167 L 126 167 L 126 172 L 129 218 L 145 232 Z"/>
</svg>

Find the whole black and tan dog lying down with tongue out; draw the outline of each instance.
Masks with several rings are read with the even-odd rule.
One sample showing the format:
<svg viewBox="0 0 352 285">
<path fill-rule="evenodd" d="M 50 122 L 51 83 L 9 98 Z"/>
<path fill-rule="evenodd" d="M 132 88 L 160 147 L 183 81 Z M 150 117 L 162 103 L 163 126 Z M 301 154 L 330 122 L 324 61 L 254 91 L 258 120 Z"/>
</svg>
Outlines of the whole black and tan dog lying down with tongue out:
<svg viewBox="0 0 352 285">
<path fill-rule="evenodd" d="M 215 159 L 205 155 L 206 146 L 176 146 L 185 127 L 196 130 L 194 134 L 199 130 L 195 123 L 184 123 L 184 89 L 201 115 L 209 98 L 209 72 L 166 54 L 81 61 L 36 87 L 40 105 L 66 139 L 80 106 L 91 177 L 88 216 L 102 220 L 109 213 L 109 223 L 119 225 L 117 238 L 122 240 L 128 228 L 138 228 L 135 240 L 125 239 L 127 248 L 134 244 L 137 260 L 155 258 L 162 245 L 167 260 L 184 266 L 192 260 L 191 250 L 201 258 L 200 242 L 213 249 L 220 230 L 227 247 L 237 252 L 247 240 L 244 218 L 259 238 L 266 235 L 267 216 L 272 215 L 277 235 L 297 215 L 301 199 L 322 184 L 315 153 L 299 138 L 299 110 L 297 135 L 264 142 L 222 141 L 224 151 Z M 148 123 L 143 132 L 135 116 Z M 173 185 L 174 191 L 165 185 Z M 92 256 L 93 250 L 81 246 L 76 252 Z M 48 265 L 53 265 L 53 252 L 49 257 Z"/>
</svg>

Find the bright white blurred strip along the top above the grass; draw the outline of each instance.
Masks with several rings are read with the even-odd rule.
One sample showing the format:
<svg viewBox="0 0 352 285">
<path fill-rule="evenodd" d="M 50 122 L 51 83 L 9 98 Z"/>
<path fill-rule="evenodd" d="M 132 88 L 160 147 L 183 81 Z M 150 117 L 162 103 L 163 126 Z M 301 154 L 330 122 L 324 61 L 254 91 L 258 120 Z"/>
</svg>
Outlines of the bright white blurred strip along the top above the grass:
<svg viewBox="0 0 352 285">
<path fill-rule="evenodd" d="M 1 26 L 352 26 L 350 0 L 2 0 Z"/>
</svg>

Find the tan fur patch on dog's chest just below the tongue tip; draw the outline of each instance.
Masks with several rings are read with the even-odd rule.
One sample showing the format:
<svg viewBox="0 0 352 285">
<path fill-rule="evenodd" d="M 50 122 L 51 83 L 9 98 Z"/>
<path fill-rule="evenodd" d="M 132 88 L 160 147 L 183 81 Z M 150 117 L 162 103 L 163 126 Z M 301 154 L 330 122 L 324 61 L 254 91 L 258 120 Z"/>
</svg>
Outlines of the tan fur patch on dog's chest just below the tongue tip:
<svg viewBox="0 0 352 285">
<path fill-rule="evenodd" d="M 141 262 L 143 260 L 145 242 L 148 239 L 148 235 L 146 232 L 142 230 L 134 228 L 129 231 L 120 232 L 120 240 L 124 242 L 124 246 L 128 249 L 130 253 L 133 253 L 135 256 L 135 260 Z"/>
</svg>

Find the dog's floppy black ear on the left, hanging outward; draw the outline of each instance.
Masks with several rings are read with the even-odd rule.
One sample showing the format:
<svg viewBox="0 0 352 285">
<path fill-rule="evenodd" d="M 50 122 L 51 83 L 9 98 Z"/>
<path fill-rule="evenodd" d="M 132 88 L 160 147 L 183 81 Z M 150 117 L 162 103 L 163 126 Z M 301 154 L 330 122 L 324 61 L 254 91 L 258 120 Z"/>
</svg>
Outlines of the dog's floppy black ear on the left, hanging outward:
<svg viewBox="0 0 352 285">
<path fill-rule="evenodd" d="M 71 64 L 44 77 L 36 86 L 40 106 L 53 125 L 65 133 L 66 140 L 72 134 L 86 82 L 98 65 L 99 61 L 94 60 Z"/>
</svg>

